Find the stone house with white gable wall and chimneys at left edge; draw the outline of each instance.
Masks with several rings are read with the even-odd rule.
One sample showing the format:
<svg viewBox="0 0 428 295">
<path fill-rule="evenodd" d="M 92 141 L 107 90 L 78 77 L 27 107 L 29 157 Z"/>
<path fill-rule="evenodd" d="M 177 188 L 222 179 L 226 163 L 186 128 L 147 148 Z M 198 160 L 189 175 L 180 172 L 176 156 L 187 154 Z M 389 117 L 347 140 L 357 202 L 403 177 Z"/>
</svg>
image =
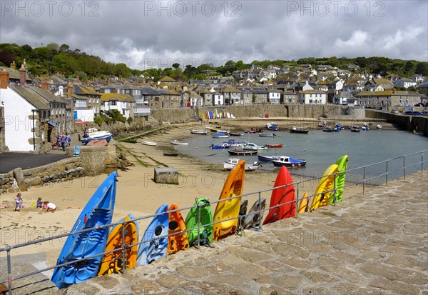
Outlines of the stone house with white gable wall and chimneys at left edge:
<svg viewBox="0 0 428 295">
<path fill-rule="evenodd" d="M 10 151 L 42 153 L 51 149 L 58 132 L 73 126 L 66 100 L 37 86 L 26 85 L 25 63 L 19 84 L 0 73 L 0 104 L 4 106 L 4 146 Z"/>
</svg>

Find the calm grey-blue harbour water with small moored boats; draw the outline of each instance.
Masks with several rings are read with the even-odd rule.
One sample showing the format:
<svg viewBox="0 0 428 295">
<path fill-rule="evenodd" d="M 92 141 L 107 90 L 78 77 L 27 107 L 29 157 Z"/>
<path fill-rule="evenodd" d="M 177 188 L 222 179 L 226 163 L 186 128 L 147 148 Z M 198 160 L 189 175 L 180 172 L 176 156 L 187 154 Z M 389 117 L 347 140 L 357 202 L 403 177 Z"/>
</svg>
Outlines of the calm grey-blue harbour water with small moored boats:
<svg viewBox="0 0 428 295">
<path fill-rule="evenodd" d="M 427 168 L 428 163 L 428 139 L 425 136 L 418 136 L 407 131 L 399 130 L 370 130 L 351 132 L 349 129 L 340 132 L 324 132 L 311 130 L 309 134 L 292 134 L 288 131 L 266 131 L 274 133 L 276 137 L 261 137 L 258 134 L 243 134 L 243 136 L 230 136 L 235 141 L 249 141 L 258 145 L 284 144 L 280 149 L 267 149 L 259 151 L 264 155 L 285 155 L 295 159 L 305 159 L 307 166 L 291 168 L 294 175 L 321 176 L 325 169 L 336 160 L 347 154 L 349 156 L 348 171 L 362 166 L 371 165 L 392 159 L 388 163 L 367 166 L 365 169 L 357 169 L 347 174 L 347 181 L 361 182 L 372 177 L 367 184 L 382 184 L 386 181 L 386 176 L 381 175 L 386 171 L 388 180 L 402 177 L 404 172 L 412 173 L 423 167 Z M 182 154 L 194 156 L 203 161 L 215 164 L 223 164 L 228 158 L 228 149 L 211 149 L 211 144 L 222 144 L 228 139 L 213 139 L 210 134 L 189 136 L 185 141 L 188 146 L 175 146 Z M 423 156 L 419 153 L 407 156 L 403 160 L 402 156 L 414 152 L 424 151 Z M 398 158 L 397 158 L 398 157 Z M 394 159 L 397 158 L 397 159 Z M 240 159 L 253 163 L 258 161 L 257 156 L 240 156 Z M 277 171 L 272 163 L 262 163 L 260 169 L 264 171 Z M 403 166 L 406 166 L 403 169 Z M 377 177 L 376 177 L 377 176 Z"/>
</svg>

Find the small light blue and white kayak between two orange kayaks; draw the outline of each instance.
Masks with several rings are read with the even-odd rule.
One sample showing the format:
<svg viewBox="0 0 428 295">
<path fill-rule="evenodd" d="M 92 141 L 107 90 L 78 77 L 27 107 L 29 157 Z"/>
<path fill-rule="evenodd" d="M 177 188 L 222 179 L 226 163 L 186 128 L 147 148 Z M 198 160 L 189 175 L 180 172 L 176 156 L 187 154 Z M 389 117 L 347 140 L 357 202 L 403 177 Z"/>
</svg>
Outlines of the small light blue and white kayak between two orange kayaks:
<svg viewBox="0 0 428 295">
<path fill-rule="evenodd" d="M 156 210 L 156 215 L 148 225 L 138 246 L 137 266 L 151 264 L 151 262 L 166 256 L 168 251 L 168 204 L 163 204 Z"/>
</svg>

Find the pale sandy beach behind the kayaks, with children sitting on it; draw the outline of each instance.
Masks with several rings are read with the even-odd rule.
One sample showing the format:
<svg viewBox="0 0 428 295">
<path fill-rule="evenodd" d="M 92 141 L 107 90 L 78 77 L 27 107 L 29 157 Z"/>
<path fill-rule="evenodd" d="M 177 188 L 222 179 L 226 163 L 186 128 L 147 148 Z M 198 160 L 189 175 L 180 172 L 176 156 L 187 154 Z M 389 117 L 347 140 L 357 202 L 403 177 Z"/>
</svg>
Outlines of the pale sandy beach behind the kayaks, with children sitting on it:
<svg viewBox="0 0 428 295">
<path fill-rule="evenodd" d="M 219 120 L 218 124 L 222 124 Z M 251 122 L 233 122 L 232 128 L 247 128 Z M 259 123 L 264 124 L 264 123 Z M 203 127 L 204 126 L 204 127 Z M 222 126 L 225 126 L 222 124 Z M 228 176 L 228 171 L 223 170 L 222 165 L 207 164 L 198 159 L 179 155 L 176 157 L 164 156 L 164 151 L 173 150 L 170 141 L 173 139 L 183 140 L 189 137 L 190 129 L 205 128 L 205 125 L 182 124 L 172 126 L 168 131 L 138 139 L 137 144 L 117 143 L 126 152 L 126 157 L 134 166 L 129 166 L 127 171 L 118 171 L 118 184 L 116 194 L 116 204 L 113 221 L 122 219 L 127 214 L 141 217 L 154 214 L 156 209 L 162 204 L 176 203 L 180 208 L 193 205 L 196 198 L 208 197 L 210 200 L 218 200 L 224 181 Z M 139 141 L 155 141 L 157 146 L 146 146 Z M 129 152 L 131 154 L 129 154 Z M 143 162 L 145 165 L 141 164 Z M 327 167 L 330 163 L 326 163 Z M 178 185 L 156 184 L 152 179 L 154 168 L 160 166 L 174 167 L 178 170 Z M 29 191 L 22 193 L 24 205 L 21 211 L 14 211 L 14 196 L 16 194 L 1 194 L 1 201 L 9 201 L 10 206 L 0 210 L 0 247 L 34 241 L 35 239 L 55 236 L 70 231 L 77 216 L 83 206 L 91 198 L 99 184 L 106 179 L 106 174 L 95 177 L 83 177 L 62 183 L 49 184 L 41 187 L 31 187 Z M 249 204 L 253 204 L 258 199 L 258 191 L 271 189 L 275 181 L 276 173 L 272 171 L 253 171 L 245 173 L 243 193 L 256 192 L 248 196 Z M 296 176 L 293 181 L 301 181 L 302 178 Z M 313 194 L 317 182 L 309 181 L 299 186 L 299 196 L 307 191 Z M 351 186 L 345 189 L 345 197 L 360 192 L 360 186 Z M 56 204 L 55 212 L 44 212 L 43 209 L 36 209 L 31 206 L 35 204 L 38 197 L 44 201 L 51 201 Z M 263 192 L 262 197 L 270 200 L 270 191 Z M 213 205 L 214 206 L 214 205 Z M 188 211 L 183 211 L 183 216 Z M 143 236 L 146 226 L 151 219 L 144 219 L 138 222 L 140 236 Z M 33 254 L 46 253 L 48 264 L 54 265 L 61 247 L 66 238 L 47 241 L 42 244 L 26 246 L 14 249 L 11 254 Z M 5 256 L 5 252 L 1 256 Z"/>
</svg>

